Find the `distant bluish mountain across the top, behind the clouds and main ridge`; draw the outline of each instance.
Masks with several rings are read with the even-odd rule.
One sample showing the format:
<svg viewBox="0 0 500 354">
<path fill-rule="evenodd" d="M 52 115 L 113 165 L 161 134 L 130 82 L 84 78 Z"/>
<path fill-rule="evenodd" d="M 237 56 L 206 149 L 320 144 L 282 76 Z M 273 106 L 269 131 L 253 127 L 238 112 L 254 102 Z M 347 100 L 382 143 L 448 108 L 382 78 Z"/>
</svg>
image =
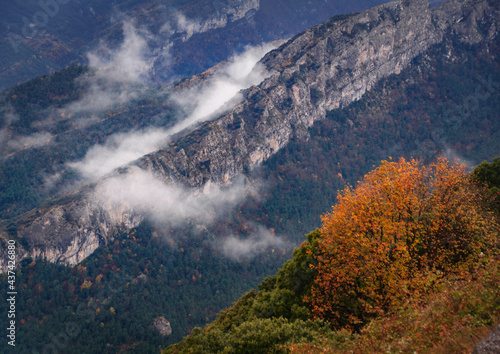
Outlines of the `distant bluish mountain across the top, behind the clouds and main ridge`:
<svg viewBox="0 0 500 354">
<path fill-rule="evenodd" d="M 0 5 L 0 88 L 86 64 L 86 53 L 99 43 L 121 41 L 122 21 L 134 19 L 136 27 L 149 32 L 151 80 L 162 84 L 200 73 L 246 45 L 284 39 L 334 14 L 383 2 L 5 2 Z"/>
</svg>

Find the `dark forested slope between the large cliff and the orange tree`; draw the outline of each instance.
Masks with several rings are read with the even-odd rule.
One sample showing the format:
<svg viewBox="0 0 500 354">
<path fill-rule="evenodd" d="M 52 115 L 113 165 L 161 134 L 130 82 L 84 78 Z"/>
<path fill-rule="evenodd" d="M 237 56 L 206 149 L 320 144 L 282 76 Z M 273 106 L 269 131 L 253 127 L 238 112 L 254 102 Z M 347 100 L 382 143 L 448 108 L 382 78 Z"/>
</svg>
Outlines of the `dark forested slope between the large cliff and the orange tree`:
<svg viewBox="0 0 500 354">
<path fill-rule="evenodd" d="M 273 188 L 248 214 L 301 237 L 337 190 L 389 156 L 489 159 L 500 151 L 499 45 L 498 38 L 488 47 L 438 44 L 358 102 L 330 111 L 264 163 L 261 176 Z"/>
</svg>

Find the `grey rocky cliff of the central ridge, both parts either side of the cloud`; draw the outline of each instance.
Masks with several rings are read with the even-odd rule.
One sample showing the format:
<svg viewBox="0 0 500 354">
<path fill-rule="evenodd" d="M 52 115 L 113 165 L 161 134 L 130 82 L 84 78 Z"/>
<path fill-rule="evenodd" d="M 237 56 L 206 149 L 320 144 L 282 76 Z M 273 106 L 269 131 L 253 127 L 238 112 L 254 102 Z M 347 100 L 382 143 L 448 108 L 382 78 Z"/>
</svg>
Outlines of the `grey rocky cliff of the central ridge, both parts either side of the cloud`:
<svg viewBox="0 0 500 354">
<path fill-rule="evenodd" d="M 488 0 L 455 0 L 434 9 L 427 0 L 401 0 L 332 18 L 266 55 L 261 63 L 272 75 L 245 90 L 230 111 L 133 168 L 196 193 L 229 185 L 293 136 L 307 139 L 314 121 L 358 100 L 381 78 L 400 73 L 445 36 L 469 44 L 490 41 L 498 35 L 499 20 L 499 4 Z M 18 227 L 29 248 L 23 256 L 74 265 L 117 232 L 137 226 L 142 220 L 137 210 L 99 202 L 102 183 L 25 218 Z"/>
</svg>

